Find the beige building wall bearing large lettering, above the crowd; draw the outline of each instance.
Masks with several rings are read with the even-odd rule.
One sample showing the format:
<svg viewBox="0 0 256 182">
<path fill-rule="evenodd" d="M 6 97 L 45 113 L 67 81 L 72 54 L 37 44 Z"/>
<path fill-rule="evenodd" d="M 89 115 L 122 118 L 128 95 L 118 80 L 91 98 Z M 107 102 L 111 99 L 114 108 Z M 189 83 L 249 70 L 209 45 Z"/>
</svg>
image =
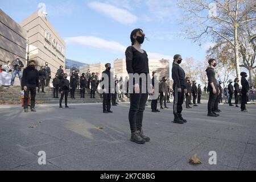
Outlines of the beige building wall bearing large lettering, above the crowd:
<svg viewBox="0 0 256 182">
<path fill-rule="evenodd" d="M 28 16 L 20 23 L 20 26 L 28 31 L 30 60 L 36 60 L 39 67 L 48 62 L 52 78 L 54 78 L 60 65 L 65 70 L 65 42 L 47 17 L 40 16 L 40 10 Z M 61 47 L 62 50 L 54 46 L 56 42 L 57 47 Z"/>
</svg>

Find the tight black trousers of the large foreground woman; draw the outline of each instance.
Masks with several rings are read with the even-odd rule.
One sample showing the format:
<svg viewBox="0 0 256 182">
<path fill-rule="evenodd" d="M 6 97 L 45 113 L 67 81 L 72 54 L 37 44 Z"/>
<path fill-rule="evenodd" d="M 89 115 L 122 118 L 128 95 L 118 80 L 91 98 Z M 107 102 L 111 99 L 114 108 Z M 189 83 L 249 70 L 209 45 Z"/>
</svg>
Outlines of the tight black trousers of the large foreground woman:
<svg viewBox="0 0 256 182">
<path fill-rule="evenodd" d="M 131 133 L 142 129 L 143 113 L 148 93 L 130 93 L 129 122 Z"/>
</svg>

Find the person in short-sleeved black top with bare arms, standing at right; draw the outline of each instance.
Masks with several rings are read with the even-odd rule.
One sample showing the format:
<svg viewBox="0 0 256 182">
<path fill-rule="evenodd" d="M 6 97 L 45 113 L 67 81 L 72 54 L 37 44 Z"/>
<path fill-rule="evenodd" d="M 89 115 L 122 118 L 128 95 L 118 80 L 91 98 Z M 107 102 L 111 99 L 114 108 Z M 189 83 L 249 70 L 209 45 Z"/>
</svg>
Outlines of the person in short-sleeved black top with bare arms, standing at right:
<svg viewBox="0 0 256 182">
<path fill-rule="evenodd" d="M 209 100 L 208 100 L 208 116 L 209 117 L 217 117 L 213 111 L 213 107 L 217 98 L 217 80 L 215 78 L 215 71 L 214 68 L 217 65 L 217 61 L 215 59 L 208 60 L 209 67 L 205 70 L 207 72 L 208 77 L 208 90 L 209 90 Z"/>
</svg>

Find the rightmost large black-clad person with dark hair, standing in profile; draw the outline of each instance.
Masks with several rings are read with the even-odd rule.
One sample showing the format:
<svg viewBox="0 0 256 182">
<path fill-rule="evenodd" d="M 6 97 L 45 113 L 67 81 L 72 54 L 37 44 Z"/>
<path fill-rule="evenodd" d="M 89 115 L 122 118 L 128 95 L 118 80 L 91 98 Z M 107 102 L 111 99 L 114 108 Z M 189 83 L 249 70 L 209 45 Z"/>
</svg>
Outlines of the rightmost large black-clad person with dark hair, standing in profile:
<svg viewBox="0 0 256 182">
<path fill-rule="evenodd" d="M 246 80 L 247 77 L 247 73 L 246 72 L 241 72 L 241 85 L 242 85 L 242 89 L 241 89 L 241 111 L 242 112 L 248 112 L 246 110 L 246 102 L 247 102 L 247 97 L 249 96 L 249 82 Z"/>
</svg>

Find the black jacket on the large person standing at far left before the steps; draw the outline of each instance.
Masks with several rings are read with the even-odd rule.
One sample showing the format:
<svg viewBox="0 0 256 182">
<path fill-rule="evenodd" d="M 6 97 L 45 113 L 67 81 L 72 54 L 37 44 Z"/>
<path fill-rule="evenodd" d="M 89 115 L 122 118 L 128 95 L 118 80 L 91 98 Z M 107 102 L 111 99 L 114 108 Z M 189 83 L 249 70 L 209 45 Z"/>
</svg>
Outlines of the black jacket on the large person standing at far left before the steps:
<svg viewBox="0 0 256 182">
<path fill-rule="evenodd" d="M 22 87 L 36 86 L 39 87 L 39 73 L 38 70 L 28 66 L 22 73 Z"/>
</svg>

